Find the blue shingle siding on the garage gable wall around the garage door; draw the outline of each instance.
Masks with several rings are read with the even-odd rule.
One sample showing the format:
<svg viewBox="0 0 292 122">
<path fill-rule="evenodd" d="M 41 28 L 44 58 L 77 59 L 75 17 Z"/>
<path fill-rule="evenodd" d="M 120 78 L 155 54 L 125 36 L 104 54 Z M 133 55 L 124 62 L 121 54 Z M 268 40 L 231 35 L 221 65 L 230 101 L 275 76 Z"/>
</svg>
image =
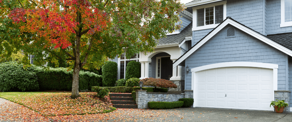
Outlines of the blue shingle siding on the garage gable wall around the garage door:
<svg viewBox="0 0 292 122">
<path fill-rule="evenodd" d="M 236 28 L 236 37 L 225 38 L 223 28 L 185 60 L 195 68 L 214 63 L 245 61 L 278 64 L 278 90 L 286 90 L 287 56 L 282 51 Z M 191 89 L 191 73 L 185 76 L 185 88 Z"/>
</svg>

